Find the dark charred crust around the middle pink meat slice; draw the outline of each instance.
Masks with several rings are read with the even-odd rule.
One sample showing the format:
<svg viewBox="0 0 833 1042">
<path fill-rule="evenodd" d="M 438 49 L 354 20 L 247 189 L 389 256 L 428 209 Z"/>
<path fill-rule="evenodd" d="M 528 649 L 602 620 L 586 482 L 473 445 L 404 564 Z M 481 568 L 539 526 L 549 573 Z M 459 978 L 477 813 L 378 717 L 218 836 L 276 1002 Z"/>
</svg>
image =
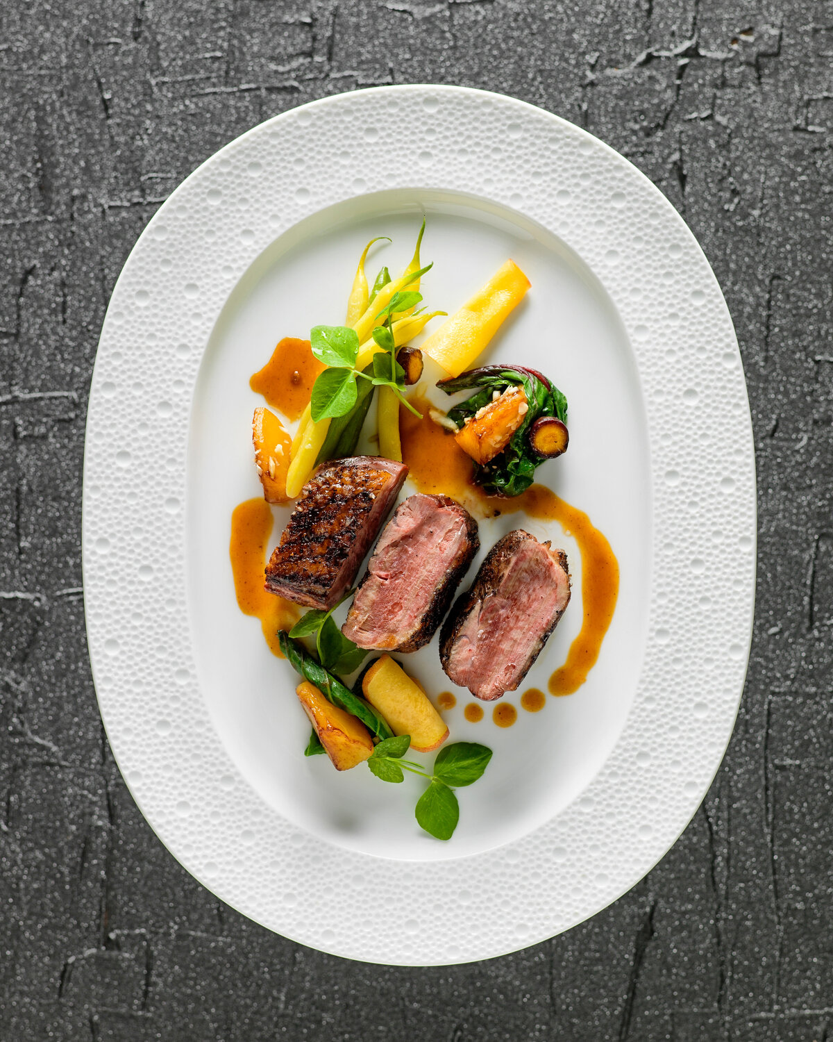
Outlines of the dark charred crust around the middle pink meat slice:
<svg viewBox="0 0 833 1042">
<path fill-rule="evenodd" d="M 407 636 L 404 640 L 397 640 L 397 635 L 390 634 L 389 630 L 385 632 L 381 638 L 378 636 L 369 636 L 367 632 L 362 632 L 361 620 L 362 616 L 371 616 L 374 610 L 373 605 L 373 593 L 374 589 L 378 586 L 379 579 L 374 570 L 374 565 L 378 562 L 378 556 L 380 552 L 384 552 L 384 541 L 385 532 L 389 530 L 390 525 L 396 525 L 400 514 L 408 510 L 409 503 L 412 500 L 430 501 L 434 503 L 437 507 L 447 507 L 453 510 L 454 514 L 459 518 L 460 523 L 463 527 L 463 538 L 461 545 L 457 548 L 454 556 L 449 561 L 444 562 L 445 568 L 441 576 L 439 576 L 437 584 L 433 587 L 433 591 L 430 600 L 424 605 L 420 605 L 414 609 L 414 618 L 412 625 L 408 626 L 405 624 L 404 628 L 407 630 Z M 385 651 L 401 651 L 409 652 L 416 651 L 419 648 L 424 647 L 439 626 L 443 621 L 443 617 L 449 610 L 449 605 L 454 597 L 454 592 L 460 579 L 465 575 L 469 570 L 469 566 L 472 564 L 477 551 L 480 549 L 480 537 L 477 529 L 477 521 L 472 517 L 472 515 L 461 506 L 455 499 L 449 496 L 429 496 L 419 494 L 415 496 L 409 496 L 408 499 L 403 500 L 397 508 L 397 513 L 390 519 L 388 523 L 388 528 L 382 532 L 379 545 L 374 552 L 373 557 L 368 565 L 368 571 L 362 578 L 358 590 L 356 591 L 356 596 L 353 600 L 353 605 L 350 609 L 350 614 L 347 617 L 345 625 L 342 627 L 344 634 L 350 638 L 359 647 L 363 648 L 377 648 L 379 650 Z M 430 551 L 429 551 L 430 553 Z M 408 562 L 411 567 L 418 562 Z M 413 576 L 415 579 L 418 576 Z M 402 623 L 400 620 L 399 627 L 402 628 Z M 380 628 L 384 628 L 383 625 L 380 626 L 379 623 L 371 626 L 372 629 L 377 631 Z"/>
</svg>

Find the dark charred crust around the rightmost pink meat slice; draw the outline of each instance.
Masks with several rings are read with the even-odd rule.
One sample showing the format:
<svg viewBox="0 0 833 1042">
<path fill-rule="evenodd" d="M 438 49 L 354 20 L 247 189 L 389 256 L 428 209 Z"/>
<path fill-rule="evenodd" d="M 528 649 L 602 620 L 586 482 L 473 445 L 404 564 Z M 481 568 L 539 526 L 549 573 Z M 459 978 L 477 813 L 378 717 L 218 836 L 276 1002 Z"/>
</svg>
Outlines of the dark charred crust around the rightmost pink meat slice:
<svg viewBox="0 0 833 1042">
<path fill-rule="evenodd" d="M 465 629 L 466 624 L 470 622 L 473 613 L 480 611 L 486 598 L 501 592 L 504 578 L 506 577 L 507 571 L 510 568 L 515 554 L 522 550 L 523 544 L 529 540 L 537 543 L 534 536 L 524 531 L 523 528 L 516 528 L 514 531 L 510 531 L 495 544 L 491 550 L 489 550 L 486 554 L 471 588 L 465 593 L 461 594 L 455 601 L 454 606 L 443 624 L 443 629 L 439 634 L 439 658 L 443 663 L 443 669 L 455 684 L 460 684 L 462 687 L 469 687 L 469 690 L 473 695 L 478 698 L 482 698 L 485 701 L 491 701 L 496 698 L 500 698 L 506 691 L 514 691 L 518 688 L 535 660 L 540 654 L 541 649 L 547 643 L 552 631 L 558 625 L 561 616 L 564 614 L 564 609 L 570 602 L 570 571 L 566 554 L 563 550 L 552 550 L 549 548 L 549 544 L 544 544 L 547 547 L 548 553 L 553 560 L 555 566 L 561 569 L 564 573 L 566 581 L 566 595 L 565 598 L 562 598 L 562 603 L 553 603 L 552 612 L 549 614 L 548 621 L 536 630 L 528 642 L 523 654 L 520 656 L 521 661 L 518 664 L 519 668 L 515 675 L 512 677 L 511 683 L 508 684 L 503 690 L 495 690 L 494 685 L 489 686 L 485 684 L 481 685 L 473 683 L 471 678 L 460 676 L 458 670 L 455 669 L 452 662 L 455 643 L 460 639 L 460 636 Z M 516 605 L 516 612 L 521 613 L 522 611 L 523 604 Z M 488 693 L 483 693 L 484 688 L 490 688 Z"/>
</svg>

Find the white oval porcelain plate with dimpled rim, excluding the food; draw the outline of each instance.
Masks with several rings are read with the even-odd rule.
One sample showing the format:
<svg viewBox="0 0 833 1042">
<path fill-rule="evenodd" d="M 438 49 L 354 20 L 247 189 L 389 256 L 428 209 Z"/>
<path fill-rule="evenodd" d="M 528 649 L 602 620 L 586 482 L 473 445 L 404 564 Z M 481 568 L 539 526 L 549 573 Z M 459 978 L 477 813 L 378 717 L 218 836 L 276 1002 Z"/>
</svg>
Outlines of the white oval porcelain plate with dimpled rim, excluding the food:
<svg viewBox="0 0 833 1042">
<path fill-rule="evenodd" d="M 422 215 L 432 308 L 454 311 L 507 256 L 529 275 L 480 361 L 540 369 L 567 395 L 570 450 L 538 478 L 589 514 L 621 568 L 587 683 L 519 708 L 509 728 L 489 706 L 464 720 L 471 699 L 436 640 L 409 659 L 430 693 L 457 695 L 452 739 L 494 749 L 447 843 L 413 819 L 419 778 L 385 785 L 303 756 L 296 677 L 238 611 L 228 555 L 231 512 L 259 491 L 249 376 L 281 338 L 344 321 L 369 239 L 394 240 L 370 267 L 404 266 Z M 172 853 L 270 929 L 380 963 L 502 954 L 628 890 L 703 798 L 753 612 L 740 357 L 680 217 L 570 123 L 478 91 L 383 88 L 304 105 L 218 152 L 116 287 L 84 468 L 90 651 L 119 766 Z M 286 517 L 275 510 L 274 542 Z M 481 524 L 483 552 L 519 524 L 564 547 L 574 577 L 522 688 L 546 690 L 580 626 L 580 557 L 557 524 L 519 515 Z"/>
</svg>

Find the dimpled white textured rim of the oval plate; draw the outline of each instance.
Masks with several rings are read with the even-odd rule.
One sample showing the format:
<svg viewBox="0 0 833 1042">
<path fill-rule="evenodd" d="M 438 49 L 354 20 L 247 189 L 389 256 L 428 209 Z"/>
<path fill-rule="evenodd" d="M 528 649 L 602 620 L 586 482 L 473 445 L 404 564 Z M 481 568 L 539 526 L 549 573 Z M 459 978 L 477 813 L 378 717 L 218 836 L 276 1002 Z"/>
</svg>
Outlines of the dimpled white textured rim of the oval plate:
<svg viewBox="0 0 833 1042">
<path fill-rule="evenodd" d="M 369 144 L 401 140 L 403 118 L 418 144 L 359 163 Z M 317 210 L 414 183 L 514 207 L 600 277 L 636 359 L 662 532 L 642 673 L 603 770 L 525 838 L 427 863 L 331 846 L 289 824 L 238 774 L 196 679 L 182 467 L 201 354 L 244 272 Z M 124 430 L 135 432 L 129 443 Z M 704 430 L 721 437 L 704 442 Z M 83 490 L 86 625 L 107 736 L 136 802 L 185 868 L 302 943 L 381 963 L 484 959 L 566 929 L 632 887 L 687 824 L 731 735 L 751 634 L 754 540 L 746 383 L 705 256 L 631 164 L 523 102 L 460 88 L 383 88 L 276 117 L 176 190 L 113 292 L 90 397 Z M 554 866 L 558 885 L 540 886 Z M 335 887 L 303 887 L 312 872 L 361 879 L 403 927 L 333 921 Z M 478 914 L 483 907 L 488 916 Z"/>
</svg>

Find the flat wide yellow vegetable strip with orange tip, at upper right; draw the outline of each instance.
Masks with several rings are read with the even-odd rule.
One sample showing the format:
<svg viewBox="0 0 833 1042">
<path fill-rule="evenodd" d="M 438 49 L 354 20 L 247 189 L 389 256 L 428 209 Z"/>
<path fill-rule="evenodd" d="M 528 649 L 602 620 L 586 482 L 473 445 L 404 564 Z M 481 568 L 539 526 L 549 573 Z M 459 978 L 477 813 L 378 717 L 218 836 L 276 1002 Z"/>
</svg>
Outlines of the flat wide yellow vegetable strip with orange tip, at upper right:
<svg viewBox="0 0 833 1042">
<path fill-rule="evenodd" d="M 459 376 L 521 303 L 529 284 L 518 265 L 507 260 L 458 312 L 431 333 L 422 345 L 422 351 L 447 373 Z"/>
</svg>

